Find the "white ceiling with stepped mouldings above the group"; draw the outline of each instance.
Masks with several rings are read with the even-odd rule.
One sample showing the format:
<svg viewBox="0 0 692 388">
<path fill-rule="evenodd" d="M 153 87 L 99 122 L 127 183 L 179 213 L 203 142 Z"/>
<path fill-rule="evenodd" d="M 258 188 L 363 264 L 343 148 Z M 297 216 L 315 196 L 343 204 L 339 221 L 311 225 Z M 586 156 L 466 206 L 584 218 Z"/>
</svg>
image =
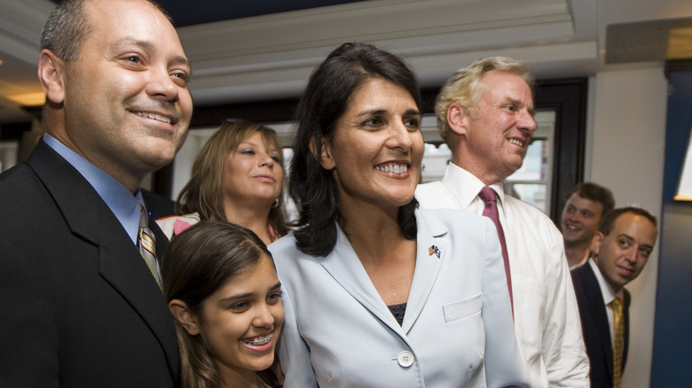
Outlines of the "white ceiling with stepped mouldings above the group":
<svg viewBox="0 0 692 388">
<path fill-rule="evenodd" d="M 0 124 L 30 118 L 7 97 L 42 91 L 35 63 L 53 6 L 49 0 L 0 0 Z M 439 85 L 488 55 L 526 60 L 544 79 L 651 66 L 605 65 L 606 27 L 680 18 L 692 18 L 691 1 L 370 0 L 181 27 L 178 33 L 193 64 L 194 102 L 201 106 L 296 97 L 330 50 L 355 40 L 406 58 L 423 86 Z M 685 38 L 683 43 L 692 46 Z"/>
</svg>

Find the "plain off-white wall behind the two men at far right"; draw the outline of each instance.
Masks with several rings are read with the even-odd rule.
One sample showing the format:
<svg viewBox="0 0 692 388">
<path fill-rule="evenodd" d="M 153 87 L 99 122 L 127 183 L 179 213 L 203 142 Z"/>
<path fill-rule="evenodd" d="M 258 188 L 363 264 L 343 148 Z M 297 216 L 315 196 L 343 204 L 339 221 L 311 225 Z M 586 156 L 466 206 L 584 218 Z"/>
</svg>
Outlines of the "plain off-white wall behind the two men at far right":
<svg viewBox="0 0 692 388">
<path fill-rule="evenodd" d="M 602 72 L 590 82 L 585 181 L 613 191 L 616 205 L 641 206 L 660 220 L 667 81 L 663 66 Z M 649 387 L 658 245 L 632 292 L 630 349 L 622 386 Z"/>
</svg>

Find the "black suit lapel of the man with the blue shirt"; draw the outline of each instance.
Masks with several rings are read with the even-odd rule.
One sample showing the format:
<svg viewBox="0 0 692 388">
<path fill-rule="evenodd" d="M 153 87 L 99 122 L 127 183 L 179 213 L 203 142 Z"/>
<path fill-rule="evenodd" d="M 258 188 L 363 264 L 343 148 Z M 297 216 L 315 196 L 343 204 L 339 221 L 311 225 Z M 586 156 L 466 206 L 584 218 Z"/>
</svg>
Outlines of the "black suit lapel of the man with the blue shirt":
<svg viewBox="0 0 692 388">
<path fill-rule="evenodd" d="M 166 300 L 120 221 L 90 183 L 43 141 L 36 144 L 27 164 L 51 192 L 72 232 L 98 246 L 100 275 L 149 325 L 166 353 L 171 375 L 177 377 L 177 337 Z M 156 222 L 150 225 L 165 249 L 168 240 Z"/>
</svg>

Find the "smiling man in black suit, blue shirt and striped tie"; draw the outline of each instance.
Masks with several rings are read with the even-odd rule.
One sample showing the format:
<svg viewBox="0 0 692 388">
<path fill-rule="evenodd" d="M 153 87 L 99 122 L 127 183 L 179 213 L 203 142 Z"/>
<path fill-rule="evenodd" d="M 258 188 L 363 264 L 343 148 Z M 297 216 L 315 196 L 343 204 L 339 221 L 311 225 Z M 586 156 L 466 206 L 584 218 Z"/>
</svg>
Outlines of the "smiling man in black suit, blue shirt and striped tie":
<svg viewBox="0 0 692 388">
<path fill-rule="evenodd" d="M 185 52 L 146 0 L 65 0 L 41 49 L 47 133 L 0 175 L 0 386 L 177 386 L 139 184 L 185 139 Z"/>
</svg>

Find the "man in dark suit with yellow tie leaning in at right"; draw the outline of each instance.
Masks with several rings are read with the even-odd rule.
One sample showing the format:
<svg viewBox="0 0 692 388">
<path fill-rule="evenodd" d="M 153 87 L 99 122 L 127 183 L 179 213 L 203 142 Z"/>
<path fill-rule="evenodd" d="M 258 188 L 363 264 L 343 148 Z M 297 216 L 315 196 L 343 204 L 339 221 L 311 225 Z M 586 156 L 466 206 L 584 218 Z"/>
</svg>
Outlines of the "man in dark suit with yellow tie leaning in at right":
<svg viewBox="0 0 692 388">
<path fill-rule="evenodd" d="M 656 218 L 637 207 L 606 213 L 594 235 L 592 258 L 571 271 L 577 294 L 586 353 L 591 363 L 591 386 L 620 386 L 629 347 L 630 283 L 644 268 L 656 244 Z M 621 301 L 622 350 L 617 367 L 617 303 Z"/>
</svg>

